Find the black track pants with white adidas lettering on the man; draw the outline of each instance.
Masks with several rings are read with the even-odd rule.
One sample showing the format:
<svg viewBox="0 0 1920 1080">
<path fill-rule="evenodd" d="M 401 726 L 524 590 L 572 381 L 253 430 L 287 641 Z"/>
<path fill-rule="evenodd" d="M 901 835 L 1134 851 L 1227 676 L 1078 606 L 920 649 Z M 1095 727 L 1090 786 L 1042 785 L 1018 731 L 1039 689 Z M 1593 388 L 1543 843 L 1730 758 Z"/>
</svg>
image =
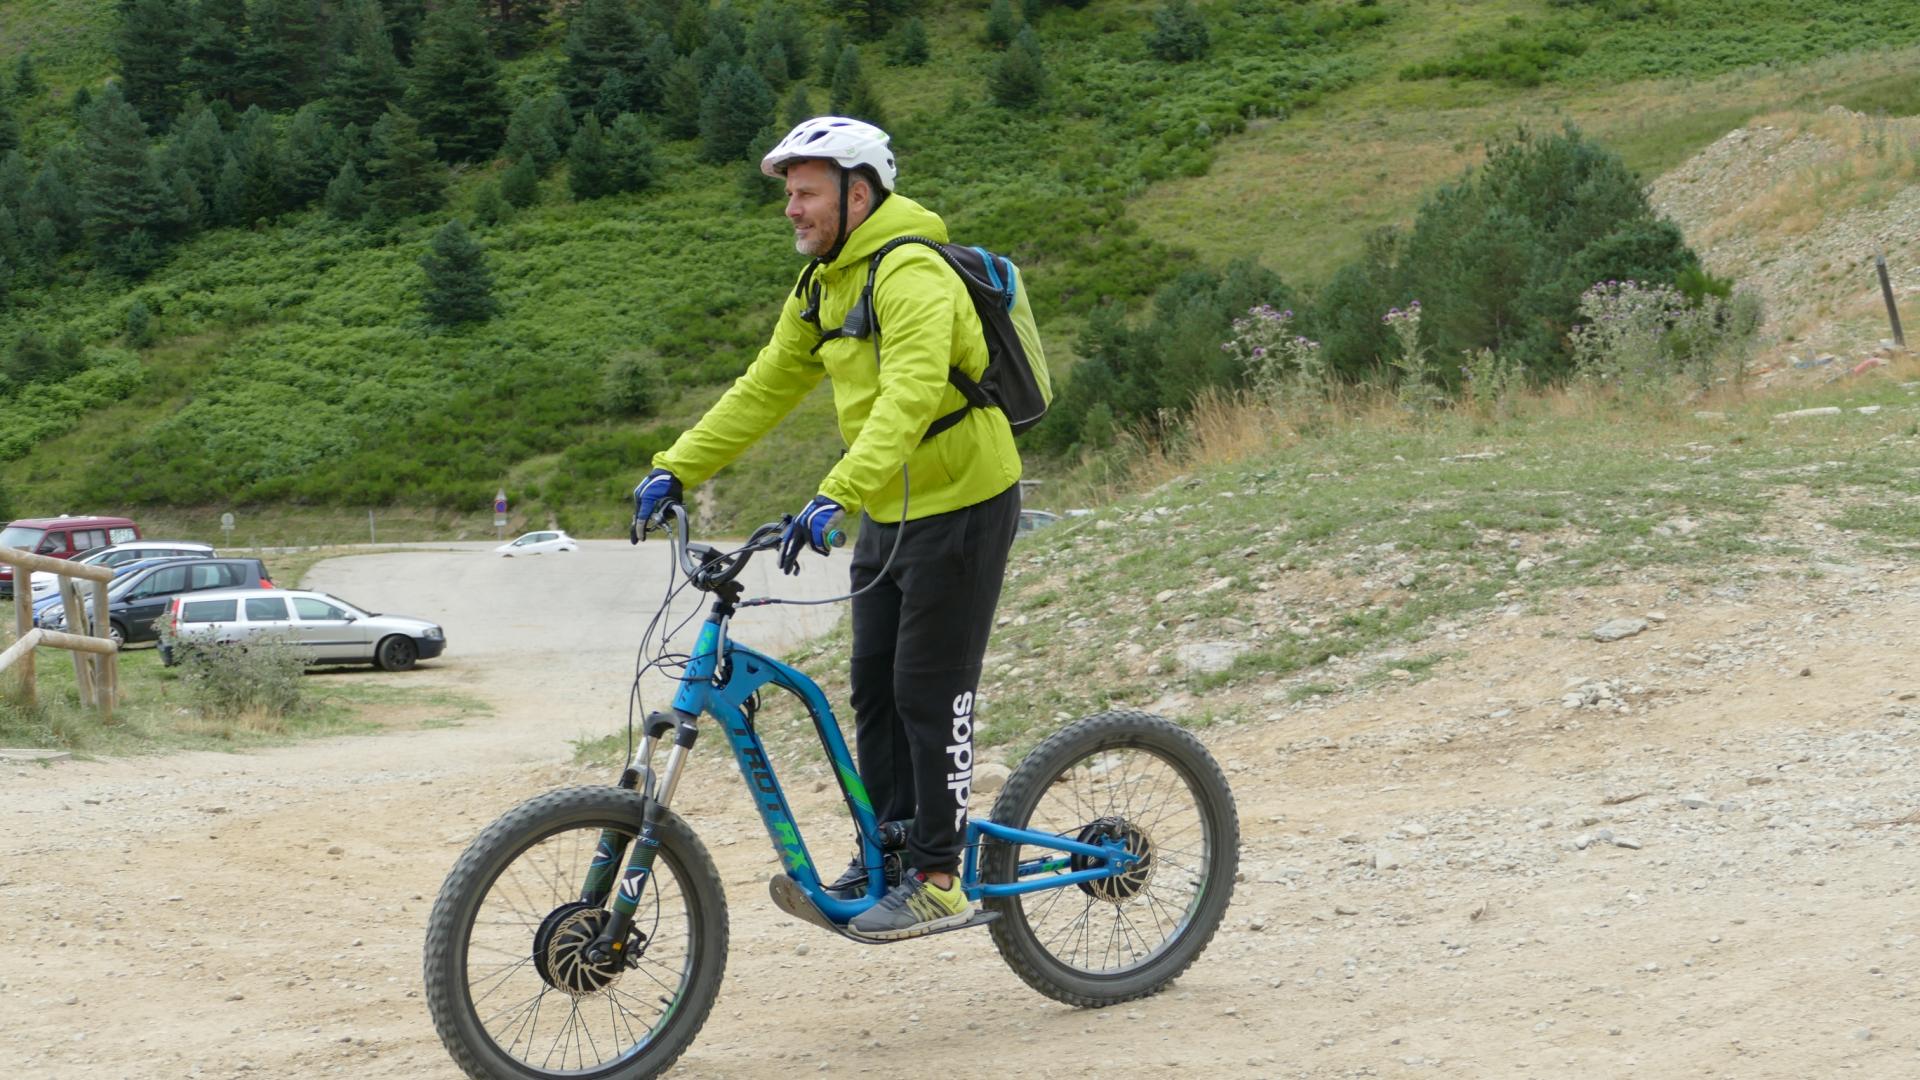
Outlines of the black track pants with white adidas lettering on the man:
<svg viewBox="0 0 1920 1080">
<path fill-rule="evenodd" d="M 1018 525 L 1020 484 L 904 525 L 860 521 L 852 588 L 879 580 L 852 600 L 854 749 L 879 821 L 914 819 L 906 865 L 922 871 L 960 867 L 973 692 Z"/>
</svg>

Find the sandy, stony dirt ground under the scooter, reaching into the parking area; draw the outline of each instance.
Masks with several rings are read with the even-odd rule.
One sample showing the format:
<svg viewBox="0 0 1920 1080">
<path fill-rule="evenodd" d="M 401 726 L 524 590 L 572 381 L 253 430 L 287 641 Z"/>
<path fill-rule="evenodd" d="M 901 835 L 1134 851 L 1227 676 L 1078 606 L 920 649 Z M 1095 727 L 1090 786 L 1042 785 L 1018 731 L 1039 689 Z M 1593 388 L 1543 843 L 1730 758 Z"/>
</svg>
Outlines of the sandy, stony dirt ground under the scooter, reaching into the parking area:
<svg viewBox="0 0 1920 1080">
<path fill-rule="evenodd" d="M 367 676 L 495 703 L 463 728 L 0 771 L 6 1074 L 455 1076 L 420 1001 L 426 907 L 486 821 L 603 778 L 564 759 L 622 715 L 659 582 L 632 565 L 321 565 L 445 619 L 445 661 Z M 1632 613 L 1663 619 L 1586 636 Z M 1029 992 L 983 934 L 868 949 L 791 922 L 703 753 L 678 809 L 733 940 L 678 1074 L 1912 1076 L 1916 625 L 1920 575 L 1891 563 L 1596 590 L 1457 628 L 1428 680 L 1210 728 L 1244 828 L 1227 926 L 1173 990 L 1098 1013 Z M 828 821 L 829 792 L 785 776 Z"/>
</svg>

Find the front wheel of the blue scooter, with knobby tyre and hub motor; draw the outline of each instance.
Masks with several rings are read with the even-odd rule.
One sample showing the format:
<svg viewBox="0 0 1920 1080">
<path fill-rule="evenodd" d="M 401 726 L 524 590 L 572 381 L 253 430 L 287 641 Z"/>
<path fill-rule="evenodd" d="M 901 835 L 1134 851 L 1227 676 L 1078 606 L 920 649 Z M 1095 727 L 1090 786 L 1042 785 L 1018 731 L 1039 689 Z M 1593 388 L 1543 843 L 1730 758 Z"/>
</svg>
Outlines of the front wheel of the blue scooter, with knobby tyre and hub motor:
<svg viewBox="0 0 1920 1080">
<path fill-rule="evenodd" d="M 474 1080 L 643 1080 L 699 1034 L 726 970 L 720 872 L 672 811 L 624 959 L 588 945 L 611 917 L 582 901 L 603 836 L 639 834 L 620 788 L 536 796 L 490 824 L 447 874 L 426 922 L 426 1007 Z"/>
</svg>

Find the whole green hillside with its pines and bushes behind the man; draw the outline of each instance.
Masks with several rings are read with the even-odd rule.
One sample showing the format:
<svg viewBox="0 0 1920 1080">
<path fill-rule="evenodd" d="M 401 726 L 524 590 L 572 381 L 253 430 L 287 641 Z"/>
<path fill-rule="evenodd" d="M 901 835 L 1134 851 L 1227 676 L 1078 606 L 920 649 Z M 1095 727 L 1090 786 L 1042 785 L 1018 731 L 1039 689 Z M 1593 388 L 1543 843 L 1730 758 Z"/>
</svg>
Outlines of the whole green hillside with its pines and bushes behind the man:
<svg viewBox="0 0 1920 1080">
<path fill-rule="evenodd" d="M 829 111 L 1027 275 L 1037 473 L 1258 380 L 1260 307 L 1325 379 L 1461 394 L 1394 363 L 1419 302 L 1423 356 L 1548 382 L 1596 282 L 1738 290 L 1645 181 L 1782 104 L 1741 79 L 1866 58 L 1793 100 L 1905 115 L 1916 44 L 1912 6 L 1786 0 L 0 0 L 0 515 L 507 488 L 616 534 L 764 342 L 803 259 L 756 161 Z M 839 450 L 822 392 L 720 521 Z"/>
</svg>

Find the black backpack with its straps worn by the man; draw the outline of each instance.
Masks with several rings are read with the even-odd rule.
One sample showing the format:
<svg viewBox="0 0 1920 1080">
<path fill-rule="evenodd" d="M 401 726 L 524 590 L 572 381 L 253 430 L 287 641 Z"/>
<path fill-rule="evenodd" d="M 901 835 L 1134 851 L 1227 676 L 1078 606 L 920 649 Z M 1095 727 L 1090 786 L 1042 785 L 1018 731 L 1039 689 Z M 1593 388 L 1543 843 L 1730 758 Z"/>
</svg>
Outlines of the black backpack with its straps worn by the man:
<svg viewBox="0 0 1920 1080">
<path fill-rule="evenodd" d="M 958 367 L 947 369 L 947 380 L 968 400 L 966 405 L 939 417 L 927 425 L 922 442 L 954 427 L 968 409 L 1000 409 L 1014 434 L 1021 434 L 1046 415 L 1046 405 L 1054 400 L 1052 380 L 1046 375 L 1046 354 L 1041 350 L 1041 329 L 1033 321 L 1033 306 L 1027 304 L 1027 286 L 1020 281 L 1020 267 L 1006 256 L 996 256 L 987 248 L 964 244 L 941 244 L 927 236 L 897 236 L 887 240 L 866 267 L 866 288 L 860 300 L 847 311 L 847 321 L 828 331 L 820 329 L 820 342 L 814 352 L 833 338 L 874 336 L 874 354 L 879 356 L 879 315 L 874 309 L 874 279 L 879 275 L 879 259 L 900 244 L 924 244 L 947 259 L 947 265 L 960 275 L 973 311 L 979 315 L 979 329 L 987 336 L 987 371 L 979 382 Z M 801 317 L 820 327 L 820 288 L 808 294 L 816 263 L 806 267 L 793 294 L 806 302 Z"/>
</svg>

